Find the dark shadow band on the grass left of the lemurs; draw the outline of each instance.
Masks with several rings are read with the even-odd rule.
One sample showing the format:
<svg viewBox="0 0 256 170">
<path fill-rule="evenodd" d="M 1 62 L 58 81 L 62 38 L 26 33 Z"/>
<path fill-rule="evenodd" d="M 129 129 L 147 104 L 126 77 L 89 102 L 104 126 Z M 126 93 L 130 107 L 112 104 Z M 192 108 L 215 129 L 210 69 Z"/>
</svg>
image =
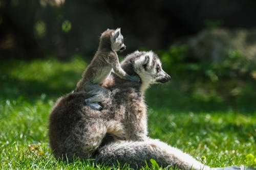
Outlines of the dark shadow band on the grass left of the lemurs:
<svg viewBox="0 0 256 170">
<path fill-rule="evenodd" d="M 62 73 L 64 74 L 64 73 Z M 46 98 L 54 99 L 59 96 L 71 92 L 79 79 L 74 78 L 74 72 L 66 72 L 65 76 L 71 78 L 69 82 L 59 81 L 59 76 L 54 75 L 47 81 L 36 80 L 18 80 L 15 78 L 5 78 L 2 82 L 2 91 L 0 91 L 0 98 L 8 100 L 16 100 L 19 97 L 25 98 L 29 102 L 41 98 L 41 95 L 46 95 Z M 72 82 L 73 80 L 73 82 Z"/>
</svg>

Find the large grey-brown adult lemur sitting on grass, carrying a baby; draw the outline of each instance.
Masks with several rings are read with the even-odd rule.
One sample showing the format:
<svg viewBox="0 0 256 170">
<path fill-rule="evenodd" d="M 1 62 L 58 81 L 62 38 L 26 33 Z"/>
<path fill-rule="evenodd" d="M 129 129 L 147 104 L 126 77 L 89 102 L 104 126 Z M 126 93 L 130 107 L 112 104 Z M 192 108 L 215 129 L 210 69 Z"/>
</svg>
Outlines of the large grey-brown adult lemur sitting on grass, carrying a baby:
<svg viewBox="0 0 256 170">
<path fill-rule="evenodd" d="M 164 142 L 147 137 L 144 91 L 154 83 L 170 80 L 153 52 L 135 52 L 121 63 L 129 75 L 138 75 L 141 83 L 120 79 L 115 74 L 102 86 L 111 94 L 103 100 L 101 111 L 84 105 L 86 92 L 61 97 L 50 114 L 50 146 L 56 157 L 95 159 L 105 164 L 125 163 L 140 168 L 150 159 L 160 166 L 181 169 L 211 169 L 190 155 Z M 223 169 L 223 168 L 212 168 Z M 225 170 L 238 169 L 237 166 Z"/>
</svg>

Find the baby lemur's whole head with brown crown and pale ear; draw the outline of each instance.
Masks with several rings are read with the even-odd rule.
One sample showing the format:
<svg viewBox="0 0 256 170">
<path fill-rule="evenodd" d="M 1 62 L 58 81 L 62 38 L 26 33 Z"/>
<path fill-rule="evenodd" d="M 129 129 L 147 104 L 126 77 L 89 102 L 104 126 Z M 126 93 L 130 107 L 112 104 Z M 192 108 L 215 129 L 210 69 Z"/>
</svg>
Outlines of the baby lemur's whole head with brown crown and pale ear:
<svg viewBox="0 0 256 170">
<path fill-rule="evenodd" d="M 106 30 L 100 36 L 99 48 L 111 48 L 114 52 L 125 50 L 120 28 Z"/>
</svg>

